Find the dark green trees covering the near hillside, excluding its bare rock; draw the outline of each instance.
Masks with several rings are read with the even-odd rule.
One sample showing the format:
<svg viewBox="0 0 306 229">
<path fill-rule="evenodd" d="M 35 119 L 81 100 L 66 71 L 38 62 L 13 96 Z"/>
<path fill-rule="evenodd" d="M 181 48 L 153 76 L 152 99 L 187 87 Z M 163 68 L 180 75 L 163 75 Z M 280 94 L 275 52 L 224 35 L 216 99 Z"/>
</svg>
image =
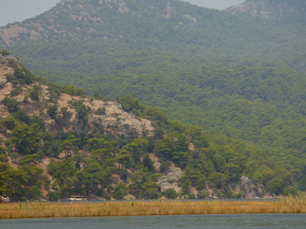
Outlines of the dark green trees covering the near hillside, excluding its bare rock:
<svg viewBox="0 0 306 229">
<path fill-rule="evenodd" d="M 75 100 L 69 104 L 77 111 L 79 122 L 84 123 L 83 129 L 54 138 L 46 129 L 46 118 L 54 119 L 59 128 L 72 125 L 69 123 L 72 113 L 67 108 L 57 109 L 60 93 L 83 96 L 82 90 L 49 83 L 49 99 L 53 104 L 50 105 L 36 84 L 26 90 L 28 95 L 21 103 L 17 102 L 14 96 L 23 93 L 22 86 L 37 81 L 41 84 L 45 80 L 22 66 L 19 68 L 13 60 L 9 63 L 15 70 L 13 75 L 7 75 L 7 80 L 14 84 L 14 89 L 11 96 L 1 101 L 10 115 L 0 117 L 1 133 L 8 136 L 7 140 L 1 140 L 0 146 L 0 194 L 15 201 L 36 199 L 42 187 L 52 188 L 48 193 L 51 200 L 73 194 L 121 199 L 129 193 L 136 198 L 155 199 L 162 195 L 194 198 L 192 188 L 197 190 L 198 198 L 205 198 L 209 195 L 207 185 L 220 198 L 241 197 L 230 185 L 242 175 L 251 177 L 255 184 L 265 185 L 270 193 L 295 194 L 305 189 L 305 155 L 299 155 L 298 150 L 286 156 L 279 152 L 277 156 L 272 152 L 267 154 L 255 144 L 170 121 L 158 108 L 145 108 L 131 96 L 119 97 L 117 101 L 124 110 L 151 120 L 155 127 L 153 137 L 133 139 L 107 135 L 98 123 L 89 125 L 86 120 L 91 109 L 82 100 Z M 94 96 L 105 99 L 99 93 Z M 37 116 L 27 114 L 25 108 L 29 106 L 48 107 L 45 115 Z M 97 112 L 105 111 L 98 109 Z M 60 154 L 64 157 L 59 157 Z M 158 170 L 149 154 L 158 158 Z M 17 169 L 7 163 L 8 156 L 18 164 Z M 48 173 L 52 181 L 38 166 L 45 158 L 51 159 Z M 170 162 L 184 171 L 176 181 L 181 187 L 180 193 L 173 189 L 161 192 L 157 183 Z M 115 183 L 114 174 L 120 177 Z"/>
</svg>

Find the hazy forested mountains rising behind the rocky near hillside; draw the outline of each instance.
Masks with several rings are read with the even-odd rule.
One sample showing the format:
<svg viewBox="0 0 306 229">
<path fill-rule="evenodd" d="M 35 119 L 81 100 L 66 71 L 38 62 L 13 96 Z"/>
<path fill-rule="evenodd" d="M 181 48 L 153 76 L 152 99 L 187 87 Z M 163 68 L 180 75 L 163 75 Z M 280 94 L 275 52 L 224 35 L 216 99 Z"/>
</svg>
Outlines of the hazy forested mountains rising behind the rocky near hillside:
<svg viewBox="0 0 306 229">
<path fill-rule="evenodd" d="M 293 180 L 304 184 L 303 4 L 246 1 L 236 11 L 218 11 L 181 1 L 64 0 L 3 27 L 0 42 L 48 80 L 108 99 L 130 94 L 171 120 L 199 125 L 216 147 L 252 145 L 258 151 L 247 155 L 255 160 L 247 162 L 255 163 L 248 176 L 258 182 L 297 169 Z M 254 10 L 277 17 L 254 17 Z"/>
</svg>

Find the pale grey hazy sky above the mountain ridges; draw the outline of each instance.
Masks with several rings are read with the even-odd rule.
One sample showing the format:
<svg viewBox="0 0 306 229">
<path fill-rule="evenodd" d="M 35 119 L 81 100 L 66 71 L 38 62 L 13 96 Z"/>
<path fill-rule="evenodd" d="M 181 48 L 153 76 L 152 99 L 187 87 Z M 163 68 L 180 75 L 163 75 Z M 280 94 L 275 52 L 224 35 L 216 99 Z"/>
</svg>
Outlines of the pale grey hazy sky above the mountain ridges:
<svg viewBox="0 0 306 229">
<path fill-rule="evenodd" d="M 245 0 L 185 0 L 198 6 L 223 10 L 238 5 Z M 15 21 L 23 21 L 48 11 L 60 0 L 0 0 L 0 26 Z"/>
</svg>

